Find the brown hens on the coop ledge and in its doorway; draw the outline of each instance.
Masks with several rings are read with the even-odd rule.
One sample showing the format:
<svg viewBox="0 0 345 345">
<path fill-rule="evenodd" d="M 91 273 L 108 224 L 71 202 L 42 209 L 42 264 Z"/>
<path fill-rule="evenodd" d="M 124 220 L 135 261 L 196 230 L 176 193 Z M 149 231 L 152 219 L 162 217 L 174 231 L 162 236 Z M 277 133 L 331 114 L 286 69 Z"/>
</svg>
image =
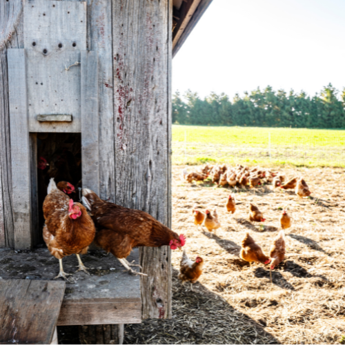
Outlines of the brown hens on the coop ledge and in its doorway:
<svg viewBox="0 0 345 345">
<path fill-rule="evenodd" d="M 43 163 L 40 159 L 38 168 L 48 166 Z M 75 186 L 70 182 L 59 181 L 56 184 L 51 178 L 43 201 L 43 239 L 60 265 L 59 275 L 55 278 L 62 277 L 68 281 L 67 275 L 71 274 L 63 271 L 62 259 L 72 254 L 77 255 L 78 270 L 88 273 L 79 254 L 86 254 L 93 241 L 117 257 L 130 273 L 139 275 L 146 274 L 132 270 L 130 266 L 139 265 L 126 260 L 132 248 L 170 246 L 174 250 L 186 243 L 184 235 L 177 235 L 144 211 L 104 201 L 87 188 L 81 189 L 81 204 L 73 200 L 75 192 Z"/>
</svg>

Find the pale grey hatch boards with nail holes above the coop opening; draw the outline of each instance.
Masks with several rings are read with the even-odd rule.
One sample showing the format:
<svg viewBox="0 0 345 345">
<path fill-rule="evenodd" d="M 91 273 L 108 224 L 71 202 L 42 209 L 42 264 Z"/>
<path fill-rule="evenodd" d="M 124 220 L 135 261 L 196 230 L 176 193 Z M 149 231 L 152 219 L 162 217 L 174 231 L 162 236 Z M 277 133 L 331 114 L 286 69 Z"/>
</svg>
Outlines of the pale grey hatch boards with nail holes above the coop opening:
<svg viewBox="0 0 345 345">
<path fill-rule="evenodd" d="M 24 5 L 30 132 L 81 131 L 80 50 L 86 50 L 86 3 L 30 0 Z M 38 121 L 39 115 L 73 121 Z"/>
</svg>

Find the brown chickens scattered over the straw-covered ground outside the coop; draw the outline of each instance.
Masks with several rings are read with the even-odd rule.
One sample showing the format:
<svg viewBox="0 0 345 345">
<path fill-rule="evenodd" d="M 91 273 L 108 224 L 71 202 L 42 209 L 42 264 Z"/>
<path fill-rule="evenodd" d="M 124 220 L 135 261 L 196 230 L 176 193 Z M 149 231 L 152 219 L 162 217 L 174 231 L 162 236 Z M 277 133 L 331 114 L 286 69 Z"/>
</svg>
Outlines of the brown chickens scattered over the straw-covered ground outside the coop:
<svg viewBox="0 0 345 345">
<path fill-rule="evenodd" d="M 194 172 L 188 172 L 184 169 L 181 173 L 181 179 L 188 183 L 208 179 L 208 181 L 218 186 L 232 186 L 234 188 L 255 188 L 262 184 L 272 184 L 273 188 L 282 188 L 285 190 L 295 189 L 295 193 L 299 197 L 309 197 L 311 195 L 306 181 L 301 177 L 294 177 L 286 181 L 285 175 L 279 172 L 273 172 L 272 170 L 259 167 L 250 169 L 239 164 L 235 167 L 228 167 L 225 164 L 223 166 L 209 166 L 206 164 L 206 166 Z M 236 200 L 234 194 L 228 197 L 225 207 L 229 213 L 235 213 Z M 202 212 L 194 207 L 193 216 L 194 224 L 196 226 L 201 226 L 203 231 L 204 226 L 210 233 L 215 233 L 221 226 L 217 215 L 217 209 L 213 210 L 213 212 L 210 210 Z M 252 222 L 263 222 L 266 220 L 259 208 L 251 203 L 249 204 L 248 219 Z M 249 233 L 246 233 L 242 240 L 242 248 L 239 256 L 250 264 L 252 262 L 270 264 L 270 269 L 276 268 L 283 262 L 286 248 L 284 229 L 290 228 L 291 226 L 291 218 L 286 210 L 283 210 L 279 221 L 282 230 L 279 231 L 277 237 L 273 239 L 269 256 L 264 254 L 262 248 L 255 243 L 255 240 Z M 195 262 L 192 262 L 184 252 L 181 259 L 181 273 L 179 278 L 182 279 L 182 281 L 188 280 L 190 283 L 195 283 L 202 273 L 203 264 L 204 260 L 201 257 L 197 257 Z M 188 274 L 186 274 L 186 272 L 188 272 Z"/>
</svg>

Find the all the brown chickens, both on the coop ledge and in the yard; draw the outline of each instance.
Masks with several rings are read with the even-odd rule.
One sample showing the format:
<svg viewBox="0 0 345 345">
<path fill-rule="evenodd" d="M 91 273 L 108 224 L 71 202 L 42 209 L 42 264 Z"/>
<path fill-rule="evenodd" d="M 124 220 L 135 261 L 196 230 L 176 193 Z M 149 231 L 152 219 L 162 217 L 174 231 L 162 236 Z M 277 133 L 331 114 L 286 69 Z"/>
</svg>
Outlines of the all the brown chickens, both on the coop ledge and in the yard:
<svg viewBox="0 0 345 345">
<path fill-rule="evenodd" d="M 39 161 L 39 168 L 48 166 L 42 159 Z M 210 179 L 218 186 L 237 186 L 241 188 L 255 188 L 261 184 L 273 184 L 273 188 L 295 189 L 299 197 L 311 195 L 308 185 L 302 178 L 294 177 L 286 183 L 286 177 L 278 172 L 268 169 L 248 168 L 237 165 L 235 168 L 223 166 L 204 166 L 199 171 L 189 172 L 186 169 L 182 172 L 181 178 L 184 181 L 204 181 Z M 59 259 L 60 271 L 58 277 L 68 280 L 63 271 L 62 259 L 66 255 L 76 254 L 79 262 L 79 269 L 88 273 L 88 269 L 81 262 L 79 254 L 86 254 L 88 246 L 95 241 L 97 246 L 108 253 L 112 253 L 119 262 L 130 272 L 139 275 L 146 275 L 132 270 L 126 257 L 130 255 L 132 248 L 137 246 L 170 246 L 172 250 L 181 249 L 186 244 L 186 237 L 178 235 L 170 228 L 161 224 L 157 219 L 141 210 L 125 208 L 109 201 L 104 201 L 88 188 L 81 189 L 81 201 L 75 202 L 72 198 L 75 193 L 75 186 L 69 181 L 59 181 L 51 178 L 47 196 L 43 202 L 43 239 L 48 246 L 50 253 Z M 229 213 L 235 213 L 235 195 L 230 195 L 226 201 L 226 209 Z M 215 232 L 221 226 L 217 210 L 197 210 L 193 208 L 194 223 L 197 226 L 204 226 L 208 231 Z M 265 221 L 264 215 L 254 204 L 249 204 L 250 221 Z M 270 247 L 269 257 L 264 254 L 262 248 L 255 243 L 253 237 L 246 233 L 242 240 L 240 257 L 247 262 L 260 262 L 270 264 L 270 269 L 277 267 L 285 256 L 284 229 L 291 226 L 291 219 L 286 210 L 280 217 L 282 229 L 277 237 L 273 239 Z M 181 257 L 179 279 L 192 284 L 197 282 L 202 274 L 204 259 L 197 256 L 195 261 L 191 260 L 186 250 Z M 140 267 L 140 266 L 139 266 Z"/>
</svg>

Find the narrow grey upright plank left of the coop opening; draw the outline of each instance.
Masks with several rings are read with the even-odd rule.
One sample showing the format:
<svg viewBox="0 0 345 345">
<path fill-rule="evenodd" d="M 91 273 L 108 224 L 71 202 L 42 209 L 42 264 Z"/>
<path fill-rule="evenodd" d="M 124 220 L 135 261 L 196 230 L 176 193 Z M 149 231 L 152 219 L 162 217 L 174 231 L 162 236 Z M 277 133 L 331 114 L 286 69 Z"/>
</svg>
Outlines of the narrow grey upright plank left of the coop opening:
<svg viewBox="0 0 345 345">
<path fill-rule="evenodd" d="M 14 248 L 18 249 L 32 246 L 25 60 L 25 50 L 8 50 Z"/>
</svg>

